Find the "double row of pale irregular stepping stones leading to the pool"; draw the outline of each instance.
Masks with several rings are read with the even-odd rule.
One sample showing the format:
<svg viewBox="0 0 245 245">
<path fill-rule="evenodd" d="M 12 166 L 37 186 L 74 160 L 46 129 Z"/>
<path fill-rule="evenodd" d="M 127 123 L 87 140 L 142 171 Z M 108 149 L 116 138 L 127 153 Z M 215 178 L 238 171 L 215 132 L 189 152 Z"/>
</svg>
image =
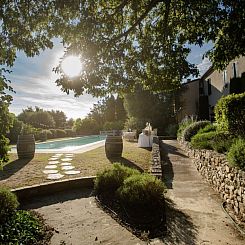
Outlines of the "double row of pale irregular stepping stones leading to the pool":
<svg viewBox="0 0 245 245">
<path fill-rule="evenodd" d="M 63 178 L 65 175 L 76 175 L 80 171 L 75 170 L 72 166 L 72 157 L 74 155 L 71 153 L 57 153 L 49 158 L 48 165 L 43 170 L 43 173 L 47 174 L 47 179 L 57 180 Z"/>
</svg>

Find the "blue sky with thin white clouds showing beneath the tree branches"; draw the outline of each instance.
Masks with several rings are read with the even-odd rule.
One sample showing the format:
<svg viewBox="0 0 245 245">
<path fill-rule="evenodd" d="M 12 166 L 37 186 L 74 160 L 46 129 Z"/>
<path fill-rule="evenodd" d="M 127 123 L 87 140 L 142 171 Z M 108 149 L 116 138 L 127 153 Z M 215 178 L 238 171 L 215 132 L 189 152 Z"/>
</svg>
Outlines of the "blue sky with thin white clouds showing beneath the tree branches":
<svg viewBox="0 0 245 245">
<path fill-rule="evenodd" d="M 202 59 L 203 53 L 211 47 L 202 48 L 191 46 L 192 52 L 188 60 L 197 65 L 202 75 L 209 67 L 207 58 Z M 61 110 L 67 118 L 84 118 L 99 98 L 85 94 L 75 98 L 72 93 L 67 95 L 57 87 L 57 75 L 52 69 L 59 63 L 64 48 L 55 40 L 51 50 L 45 50 L 39 56 L 28 58 L 23 52 L 17 53 L 17 59 L 8 78 L 16 93 L 12 94 L 13 101 L 10 112 L 18 115 L 29 106 L 38 106 L 45 110 Z"/>
</svg>

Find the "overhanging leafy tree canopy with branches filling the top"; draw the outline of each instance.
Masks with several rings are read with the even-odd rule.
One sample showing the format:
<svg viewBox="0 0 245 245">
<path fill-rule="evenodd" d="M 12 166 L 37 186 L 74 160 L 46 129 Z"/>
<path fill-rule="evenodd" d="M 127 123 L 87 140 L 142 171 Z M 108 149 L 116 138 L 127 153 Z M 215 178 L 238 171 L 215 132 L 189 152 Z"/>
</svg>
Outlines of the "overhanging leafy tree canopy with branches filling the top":
<svg viewBox="0 0 245 245">
<path fill-rule="evenodd" d="M 0 6 L 0 65 L 11 66 L 17 50 L 28 56 L 60 37 L 65 54 L 78 54 L 84 70 L 56 81 L 75 95 L 127 92 L 142 84 L 173 90 L 197 75 L 187 61 L 189 44 L 211 41 L 216 68 L 245 55 L 244 0 L 3 0 Z"/>
</svg>

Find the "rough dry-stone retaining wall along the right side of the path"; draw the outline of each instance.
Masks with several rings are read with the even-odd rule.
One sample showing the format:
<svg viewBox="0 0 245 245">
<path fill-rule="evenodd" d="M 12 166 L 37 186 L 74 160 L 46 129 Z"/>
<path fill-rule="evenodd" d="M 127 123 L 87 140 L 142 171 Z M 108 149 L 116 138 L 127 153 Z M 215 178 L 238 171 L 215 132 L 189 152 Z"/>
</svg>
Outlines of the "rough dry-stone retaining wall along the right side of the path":
<svg viewBox="0 0 245 245">
<path fill-rule="evenodd" d="M 234 211 L 236 218 L 245 221 L 245 172 L 231 167 L 224 154 L 192 149 L 189 142 L 179 141 L 179 143 L 193 159 L 202 176 Z"/>
</svg>

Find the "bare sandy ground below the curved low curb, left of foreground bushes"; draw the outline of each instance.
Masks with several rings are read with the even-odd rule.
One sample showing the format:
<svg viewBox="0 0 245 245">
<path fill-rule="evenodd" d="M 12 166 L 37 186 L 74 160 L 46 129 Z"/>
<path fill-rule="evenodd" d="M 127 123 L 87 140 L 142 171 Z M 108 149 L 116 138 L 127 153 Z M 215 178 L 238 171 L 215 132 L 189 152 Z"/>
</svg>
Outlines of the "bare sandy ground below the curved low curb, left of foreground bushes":
<svg viewBox="0 0 245 245">
<path fill-rule="evenodd" d="M 98 208 L 91 190 L 54 194 L 25 208 L 34 208 L 54 227 L 51 245 L 146 244 Z"/>
</svg>

